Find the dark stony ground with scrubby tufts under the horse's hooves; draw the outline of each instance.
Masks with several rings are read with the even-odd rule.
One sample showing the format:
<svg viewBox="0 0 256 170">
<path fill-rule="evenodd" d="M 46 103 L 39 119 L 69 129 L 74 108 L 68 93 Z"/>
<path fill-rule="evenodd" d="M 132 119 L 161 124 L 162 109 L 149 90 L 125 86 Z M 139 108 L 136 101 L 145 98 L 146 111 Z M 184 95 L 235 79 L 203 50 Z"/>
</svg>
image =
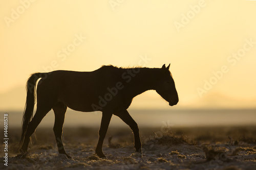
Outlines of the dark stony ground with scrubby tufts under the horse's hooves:
<svg viewBox="0 0 256 170">
<path fill-rule="evenodd" d="M 256 127 L 140 128 L 143 154 L 135 153 L 129 128 L 110 127 L 95 155 L 98 129 L 64 128 L 66 152 L 58 154 L 54 133 L 38 128 L 26 157 L 17 156 L 20 129 L 9 130 L 8 166 L 1 169 L 255 169 Z"/>
</svg>

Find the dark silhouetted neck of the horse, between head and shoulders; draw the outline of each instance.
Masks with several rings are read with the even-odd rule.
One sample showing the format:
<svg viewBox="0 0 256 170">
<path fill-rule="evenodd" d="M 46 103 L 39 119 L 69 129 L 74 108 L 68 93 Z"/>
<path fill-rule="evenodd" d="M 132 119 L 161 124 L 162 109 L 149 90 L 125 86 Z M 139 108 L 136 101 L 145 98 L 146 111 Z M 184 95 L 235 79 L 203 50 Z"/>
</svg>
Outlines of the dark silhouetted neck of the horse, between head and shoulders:
<svg viewBox="0 0 256 170">
<path fill-rule="evenodd" d="M 135 76 L 131 76 L 131 81 L 125 84 L 127 87 L 127 95 L 130 98 L 134 98 L 136 95 L 147 90 L 155 90 L 159 72 L 159 68 L 139 68 L 139 71 L 133 74 L 133 76 Z"/>
</svg>

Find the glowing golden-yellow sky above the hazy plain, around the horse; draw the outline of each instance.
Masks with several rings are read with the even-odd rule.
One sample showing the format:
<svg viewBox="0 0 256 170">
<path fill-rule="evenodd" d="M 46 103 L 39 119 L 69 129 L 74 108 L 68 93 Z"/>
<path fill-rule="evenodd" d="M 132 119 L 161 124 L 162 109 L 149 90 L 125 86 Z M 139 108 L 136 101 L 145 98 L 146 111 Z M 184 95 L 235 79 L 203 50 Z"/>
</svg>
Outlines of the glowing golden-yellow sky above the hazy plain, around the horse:
<svg viewBox="0 0 256 170">
<path fill-rule="evenodd" d="M 256 1 L 21 0 L 0 8 L 0 109 L 24 106 L 33 72 L 169 63 L 176 108 L 256 106 Z M 169 108 L 155 91 L 131 107 Z"/>
</svg>

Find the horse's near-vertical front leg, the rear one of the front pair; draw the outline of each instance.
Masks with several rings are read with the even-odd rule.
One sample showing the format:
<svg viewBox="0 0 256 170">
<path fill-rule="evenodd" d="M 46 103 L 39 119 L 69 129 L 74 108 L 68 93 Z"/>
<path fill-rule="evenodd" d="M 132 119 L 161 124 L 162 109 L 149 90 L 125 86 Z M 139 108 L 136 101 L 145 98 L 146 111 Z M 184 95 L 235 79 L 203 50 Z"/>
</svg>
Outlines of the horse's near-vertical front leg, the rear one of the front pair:
<svg viewBox="0 0 256 170">
<path fill-rule="evenodd" d="M 99 141 L 95 150 L 95 153 L 100 158 L 106 157 L 102 152 L 102 144 L 106 136 L 106 131 L 108 131 L 111 117 L 112 117 L 112 113 L 102 112 L 101 124 L 99 129 Z"/>
</svg>

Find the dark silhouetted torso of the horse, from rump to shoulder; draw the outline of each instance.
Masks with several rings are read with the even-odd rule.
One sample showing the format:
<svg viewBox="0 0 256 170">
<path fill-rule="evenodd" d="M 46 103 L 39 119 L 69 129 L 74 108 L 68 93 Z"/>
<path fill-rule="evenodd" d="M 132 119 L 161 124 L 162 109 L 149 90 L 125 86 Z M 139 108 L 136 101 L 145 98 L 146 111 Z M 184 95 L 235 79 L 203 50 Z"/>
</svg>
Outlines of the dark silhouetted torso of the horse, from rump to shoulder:
<svg viewBox="0 0 256 170">
<path fill-rule="evenodd" d="M 118 82 L 120 71 L 116 67 L 101 67 L 91 72 L 52 71 L 46 79 L 38 82 L 37 99 L 44 98 L 43 100 L 52 103 L 62 102 L 73 110 L 84 112 L 95 111 L 92 106 L 98 106 L 101 111 L 108 107 L 113 109 L 120 105 L 121 92 L 112 95 L 111 101 L 105 101 L 104 96 L 110 93 L 108 89 L 115 87 Z"/>
</svg>

